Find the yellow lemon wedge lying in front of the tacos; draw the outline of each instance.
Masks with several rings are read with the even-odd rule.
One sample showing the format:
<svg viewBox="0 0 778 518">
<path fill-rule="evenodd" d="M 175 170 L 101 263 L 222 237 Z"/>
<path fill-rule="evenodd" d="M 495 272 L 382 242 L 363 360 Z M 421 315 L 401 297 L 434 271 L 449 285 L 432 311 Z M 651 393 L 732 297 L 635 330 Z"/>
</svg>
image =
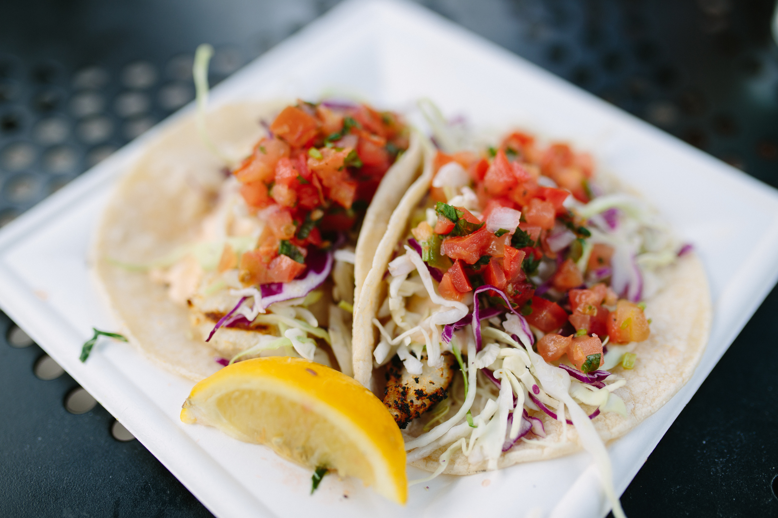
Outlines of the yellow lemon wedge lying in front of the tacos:
<svg viewBox="0 0 778 518">
<path fill-rule="evenodd" d="M 359 478 L 394 502 L 408 498 L 405 444 L 384 403 L 321 363 L 289 356 L 233 363 L 192 388 L 181 421 Z"/>
</svg>

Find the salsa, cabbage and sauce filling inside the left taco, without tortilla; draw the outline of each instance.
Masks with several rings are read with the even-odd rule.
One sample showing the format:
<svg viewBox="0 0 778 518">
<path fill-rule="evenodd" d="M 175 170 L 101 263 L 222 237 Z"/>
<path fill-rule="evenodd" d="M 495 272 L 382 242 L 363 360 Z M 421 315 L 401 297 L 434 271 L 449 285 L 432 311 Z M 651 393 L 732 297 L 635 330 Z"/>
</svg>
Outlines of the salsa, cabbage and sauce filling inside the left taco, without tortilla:
<svg viewBox="0 0 778 518">
<path fill-rule="evenodd" d="M 408 129 L 395 113 L 326 102 L 286 106 L 265 126 L 196 242 L 152 278 L 224 363 L 282 354 L 350 374 L 354 245 Z"/>
</svg>

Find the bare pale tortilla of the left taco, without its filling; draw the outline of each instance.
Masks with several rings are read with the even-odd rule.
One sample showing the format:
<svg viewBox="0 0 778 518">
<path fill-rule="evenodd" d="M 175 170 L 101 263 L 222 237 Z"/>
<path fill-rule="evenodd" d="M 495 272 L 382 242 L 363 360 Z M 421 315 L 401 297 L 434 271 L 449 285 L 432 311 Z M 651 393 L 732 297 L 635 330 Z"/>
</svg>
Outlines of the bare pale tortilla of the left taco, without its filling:
<svg viewBox="0 0 778 518">
<path fill-rule="evenodd" d="M 273 120 L 288 101 L 221 106 L 207 116 L 209 136 L 224 155 L 238 162 L 266 134 L 261 120 Z M 419 138 L 381 181 L 356 242 L 356 288 L 359 290 L 389 217 L 401 193 L 418 176 Z M 221 367 L 215 357 L 245 348 L 242 329 L 220 329 L 205 342 L 213 322 L 174 303 L 167 289 L 142 268 L 195 240 L 212 210 L 219 188 L 229 176 L 223 159 L 203 144 L 190 114 L 172 123 L 132 165 L 107 202 L 91 253 L 93 274 L 107 305 L 129 341 L 145 356 L 184 377 L 199 381 Z M 335 274 L 335 272 L 333 273 Z M 324 311 L 323 322 L 326 320 Z M 202 320 L 202 319 L 201 319 Z M 199 322 L 199 324 L 198 324 Z M 347 332 L 340 329 L 336 332 Z M 338 358 L 350 371 L 350 351 Z"/>
</svg>

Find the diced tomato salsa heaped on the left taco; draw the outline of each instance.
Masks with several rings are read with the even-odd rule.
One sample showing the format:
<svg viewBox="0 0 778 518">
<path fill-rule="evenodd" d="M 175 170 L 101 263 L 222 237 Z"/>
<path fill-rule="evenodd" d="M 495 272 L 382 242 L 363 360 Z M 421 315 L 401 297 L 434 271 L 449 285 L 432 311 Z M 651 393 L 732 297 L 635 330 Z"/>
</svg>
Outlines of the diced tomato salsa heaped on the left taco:
<svg viewBox="0 0 778 518">
<path fill-rule="evenodd" d="M 267 222 L 256 249 L 240 256 L 246 285 L 285 283 L 306 269 L 324 236 L 351 231 L 402 151 L 399 116 L 366 104 L 287 106 L 233 175 L 250 210 Z M 227 256 L 230 261 L 232 256 Z"/>
</svg>

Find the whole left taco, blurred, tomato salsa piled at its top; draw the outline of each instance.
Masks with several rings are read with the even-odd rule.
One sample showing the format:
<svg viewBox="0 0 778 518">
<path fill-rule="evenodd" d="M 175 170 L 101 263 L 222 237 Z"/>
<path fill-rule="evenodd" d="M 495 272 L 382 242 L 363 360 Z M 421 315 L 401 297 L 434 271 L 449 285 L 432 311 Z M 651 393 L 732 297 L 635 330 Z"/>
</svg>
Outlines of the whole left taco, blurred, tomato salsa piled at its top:
<svg viewBox="0 0 778 518">
<path fill-rule="evenodd" d="M 107 203 L 94 273 L 130 341 L 191 379 L 270 355 L 350 375 L 355 287 L 420 162 L 401 116 L 366 104 L 184 116 Z"/>
</svg>

